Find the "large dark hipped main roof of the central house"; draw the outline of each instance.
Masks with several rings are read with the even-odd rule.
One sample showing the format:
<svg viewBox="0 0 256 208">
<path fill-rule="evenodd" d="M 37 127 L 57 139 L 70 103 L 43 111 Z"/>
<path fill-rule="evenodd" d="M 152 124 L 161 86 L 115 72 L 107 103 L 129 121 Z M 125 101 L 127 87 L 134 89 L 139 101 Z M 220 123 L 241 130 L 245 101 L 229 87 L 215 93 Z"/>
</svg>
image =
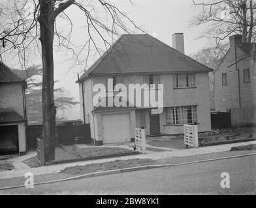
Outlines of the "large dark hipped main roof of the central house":
<svg viewBox="0 0 256 208">
<path fill-rule="evenodd" d="M 124 34 L 79 79 L 89 74 L 210 72 L 212 69 L 153 38 Z"/>
</svg>

